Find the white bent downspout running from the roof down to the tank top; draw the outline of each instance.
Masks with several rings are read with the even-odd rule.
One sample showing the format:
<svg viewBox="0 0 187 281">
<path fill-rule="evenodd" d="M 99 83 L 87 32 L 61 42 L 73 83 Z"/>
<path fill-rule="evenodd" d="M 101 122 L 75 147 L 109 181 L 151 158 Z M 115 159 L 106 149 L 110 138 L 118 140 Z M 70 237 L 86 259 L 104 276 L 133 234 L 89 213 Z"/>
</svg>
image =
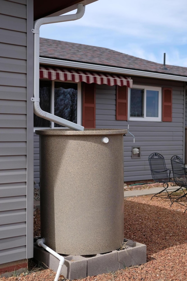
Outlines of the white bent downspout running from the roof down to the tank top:
<svg viewBox="0 0 187 281">
<path fill-rule="evenodd" d="M 55 122 L 57 124 L 63 125 L 65 127 L 77 131 L 83 131 L 84 127 L 76 123 L 73 123 L 71 121 L 68 121 L 66 119 L 63 119 L 61 117 L 58 117 L 56 115 L 53 115 L 49 112 L 43 111 L 40 107 L 39 104 L 40 101 L 39 99 L 39 28 L 42 24 L 60 23 L 70 20 L 78 20 L 79 18 L 82 18 L 82 16 L 84 15 L 84 11 L 85 11 L 85 5 L 82 3 L 78 4 L 76 14 L 40 18 L 34 22 L 34 29 L 32 29 L 32 32 L 34 33 L 34 97 L 32 97 L 31 100 L 34 102 L 34 113 L 39 117 L 42 117 L 44 119 L 47 119 L 49 121 Z"/>
</svg>

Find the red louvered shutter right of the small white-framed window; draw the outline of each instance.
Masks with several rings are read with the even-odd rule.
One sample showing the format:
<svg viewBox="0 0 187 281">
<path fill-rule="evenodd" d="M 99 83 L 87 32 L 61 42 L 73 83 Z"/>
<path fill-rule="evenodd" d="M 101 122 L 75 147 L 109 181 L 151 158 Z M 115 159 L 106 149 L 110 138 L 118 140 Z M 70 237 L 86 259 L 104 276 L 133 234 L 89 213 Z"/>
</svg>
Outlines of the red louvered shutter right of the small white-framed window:
<svg viewBox="0 0 187 281">
<path fill-rule="evenodd" d="M 171 88 L 163 88 L 162 121 L 172 122 L 172 89 Z"/>
</svg>

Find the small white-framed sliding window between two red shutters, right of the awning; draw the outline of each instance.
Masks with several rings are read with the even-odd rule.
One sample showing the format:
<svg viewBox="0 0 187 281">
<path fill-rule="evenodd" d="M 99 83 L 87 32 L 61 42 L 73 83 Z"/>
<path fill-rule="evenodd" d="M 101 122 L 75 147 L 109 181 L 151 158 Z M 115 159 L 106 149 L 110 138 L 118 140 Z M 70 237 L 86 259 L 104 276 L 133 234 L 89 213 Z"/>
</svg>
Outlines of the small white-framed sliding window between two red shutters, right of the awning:
<svg viewBox="0 0 187 281">
<path fill-rule="evenodd" d="M 161 121 L 161 97 L 159 87 L 134 86 L 129 90 L 129 120 Z"/>
</svg>

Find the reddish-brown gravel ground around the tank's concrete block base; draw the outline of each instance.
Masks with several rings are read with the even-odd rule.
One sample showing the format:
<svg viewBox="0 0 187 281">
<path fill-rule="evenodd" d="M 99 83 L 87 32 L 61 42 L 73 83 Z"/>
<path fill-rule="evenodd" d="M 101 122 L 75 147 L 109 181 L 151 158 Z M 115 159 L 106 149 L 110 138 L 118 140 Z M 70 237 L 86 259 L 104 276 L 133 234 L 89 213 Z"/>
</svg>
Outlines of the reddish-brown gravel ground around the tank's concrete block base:
<svg viewBox="0 0 187 281">
<path fill-rule="evenodd" d="M 155 186 L 154 186 L 155 187 Z M 116 272 L 87 277 L 81 281 L 186 281 L 187 280 L 187 212 L 185 207 L 168 199 L 138 196 L 124 199 L 124 237 L 147 245 L 147 262 Z M 38 236 L 39 210 L 34 215 L 34 235 Z M 34 269 L 35 270 L 35 269 Z M 32 272 L 0 281 L 52 281 L 52 270 Z M 59 280 L 63 280 L 60 276 Z"/>
</svg>

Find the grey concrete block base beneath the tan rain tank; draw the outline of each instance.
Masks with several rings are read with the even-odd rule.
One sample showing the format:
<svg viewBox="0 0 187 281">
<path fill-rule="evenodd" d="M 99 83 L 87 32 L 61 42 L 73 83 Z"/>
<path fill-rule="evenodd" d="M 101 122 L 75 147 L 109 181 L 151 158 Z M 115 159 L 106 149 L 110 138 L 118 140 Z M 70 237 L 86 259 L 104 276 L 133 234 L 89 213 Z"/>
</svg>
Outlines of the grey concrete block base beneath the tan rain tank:
<svg viewBox="0 0 187 281">
<path fill-rule="evenodd" d="M 146 263 L 146 245 L 128 240 L 126 246 L 124 250 L 92 256 L 64 256 L 65 263 L 61 275 L 67 279 L 81 279 Z M 36 244 L 34 244 L 34 258 L 57 271 L 59 260 Z"/>
</svg>

